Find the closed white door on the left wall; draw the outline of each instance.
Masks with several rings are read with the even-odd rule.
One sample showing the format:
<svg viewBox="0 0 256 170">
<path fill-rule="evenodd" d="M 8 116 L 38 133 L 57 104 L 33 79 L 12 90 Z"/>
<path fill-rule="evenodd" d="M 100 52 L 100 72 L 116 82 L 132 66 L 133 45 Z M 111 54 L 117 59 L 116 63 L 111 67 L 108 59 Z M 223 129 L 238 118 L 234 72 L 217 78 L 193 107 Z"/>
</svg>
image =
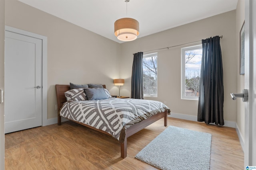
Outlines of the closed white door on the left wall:
<svg viewBox="0 0 256 170">
<path fill-rule="evenodd" d="M 4 70 L 5 133 L 42 126 L 42 39 L 5 31 Z"/>
</svg>

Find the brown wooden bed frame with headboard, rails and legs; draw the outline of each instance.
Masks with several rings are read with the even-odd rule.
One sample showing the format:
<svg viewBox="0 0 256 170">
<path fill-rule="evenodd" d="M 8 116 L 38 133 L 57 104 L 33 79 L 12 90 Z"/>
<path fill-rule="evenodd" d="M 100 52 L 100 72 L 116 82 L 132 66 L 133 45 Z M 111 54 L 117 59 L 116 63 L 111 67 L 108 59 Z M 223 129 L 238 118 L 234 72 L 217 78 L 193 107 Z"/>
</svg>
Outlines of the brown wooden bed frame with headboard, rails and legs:
<svg viewBox="0 0 256 170">
<path fill-rule="evenodd" d="M 103 87 L 106 88 L 106 85 L 103 85 Z M 68 90 L 70 90 L 70 85 L 56 84 L 56 95 L 57 95 L 57 104 L 58 104 L 58 125 L 61 125 L 60 108 L 66 102 L 66 97 L 65 97 L 64 93 Z M 148 119 L 145 119 L 139 123 L 136 123 L 136 124 L 130 126 L 128 129 L 126 129 L 126 136 L 124 139 L 124 143 L 121 143 L 121 157 L 125 158 L 127 156 L 127 138 L 128 137 L 130 137 L 131 135 L 137 133 L 138 131 L 144 129 L 148 125 L 151 125 L 152 123 L 154 123 L 155 121 L 158 121 L 159 119 L 161 119 L 163 117 L 164 117 L 164 126 L 167 126 L 167 114 L 168 114 L 168 111 L 157 113 L 156 115 L 153 115 L 153 116 L 149 117 Z M 71 121 L 73 121 L 73 120 L 71 120 Z M 89 126 L 89 125 L 86 125 L 86 124 L 83 124 L 83 123 L 80 123 L 77 121 L 74 121 L 74 122 L 84 125 L 86 127 L 89 127 L 91 129 L 94 129 L 96 131 L 105 133 L 107 135 L 110 135 L 109 133 L 102 131 L 100 129 L 96 129 L 92 126 Z"/>
</svg>

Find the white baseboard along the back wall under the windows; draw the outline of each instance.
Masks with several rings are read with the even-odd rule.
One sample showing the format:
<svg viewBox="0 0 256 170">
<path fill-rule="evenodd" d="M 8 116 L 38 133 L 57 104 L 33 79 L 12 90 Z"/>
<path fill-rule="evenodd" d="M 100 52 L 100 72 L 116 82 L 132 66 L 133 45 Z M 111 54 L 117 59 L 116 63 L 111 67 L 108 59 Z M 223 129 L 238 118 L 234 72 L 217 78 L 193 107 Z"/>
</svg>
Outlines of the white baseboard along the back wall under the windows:
<svg viewBox="0 0 256 170">
<path fill-rule="evenodd" d="M 180 114 L 180 113 L 171 113 L 168 116 L 173 117 L 173 118 L 177 118 L 177 119 L 197 121 L 197 116 L 193 116 L 193 115 L 185 115 L 185 114 Z M 236 128 L 236 122 L 234 122 L 234 121 L 225 121 L 224 120 L 224 123 L 225 123 L 224 126 L 226 126 L 226 127 Z M 214 123 L 210 123 L 210 124 L 215 125 Z"/>
</svg>

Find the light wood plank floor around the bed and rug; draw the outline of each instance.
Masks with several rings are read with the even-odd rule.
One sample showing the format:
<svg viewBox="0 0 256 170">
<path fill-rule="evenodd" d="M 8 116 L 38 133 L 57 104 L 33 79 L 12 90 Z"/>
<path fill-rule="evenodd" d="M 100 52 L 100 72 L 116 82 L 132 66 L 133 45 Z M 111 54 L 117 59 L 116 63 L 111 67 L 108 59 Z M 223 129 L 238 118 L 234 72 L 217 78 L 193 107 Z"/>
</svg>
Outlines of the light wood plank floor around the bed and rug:
<svg viewBox="0 0 256 170">
<path fill-rule="evenodd" d="M 236 130 L 168 117 L 168 125 L 212 134 L 210 170 L 244 169 L 244 153 Z M 111 136 L 68 121 L 5 135 L 6 170 L 154 170 L 135 155 L 166 127 L 163 119 L 128 138 L 127 157 Z"/>
</svg>

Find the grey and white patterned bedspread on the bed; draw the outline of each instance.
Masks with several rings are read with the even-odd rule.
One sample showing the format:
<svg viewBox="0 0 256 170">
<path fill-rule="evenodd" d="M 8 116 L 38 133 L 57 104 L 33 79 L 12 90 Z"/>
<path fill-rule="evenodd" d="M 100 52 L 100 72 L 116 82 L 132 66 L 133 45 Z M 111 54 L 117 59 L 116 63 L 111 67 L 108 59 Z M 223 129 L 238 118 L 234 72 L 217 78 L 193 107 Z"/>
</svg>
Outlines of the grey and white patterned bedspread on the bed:
<svg viewBox="0 0 256 170">
<path fill-rule="evenodd" d="M 106 131 L 122 143 L 125 134 L 120 139 L 120 133 L 125 133 L 125 129 L 166 110 L 170 114 L 166 105 L 154 100 L 109 98 L 66 102 L 60 115 Z"/>
</svg>

